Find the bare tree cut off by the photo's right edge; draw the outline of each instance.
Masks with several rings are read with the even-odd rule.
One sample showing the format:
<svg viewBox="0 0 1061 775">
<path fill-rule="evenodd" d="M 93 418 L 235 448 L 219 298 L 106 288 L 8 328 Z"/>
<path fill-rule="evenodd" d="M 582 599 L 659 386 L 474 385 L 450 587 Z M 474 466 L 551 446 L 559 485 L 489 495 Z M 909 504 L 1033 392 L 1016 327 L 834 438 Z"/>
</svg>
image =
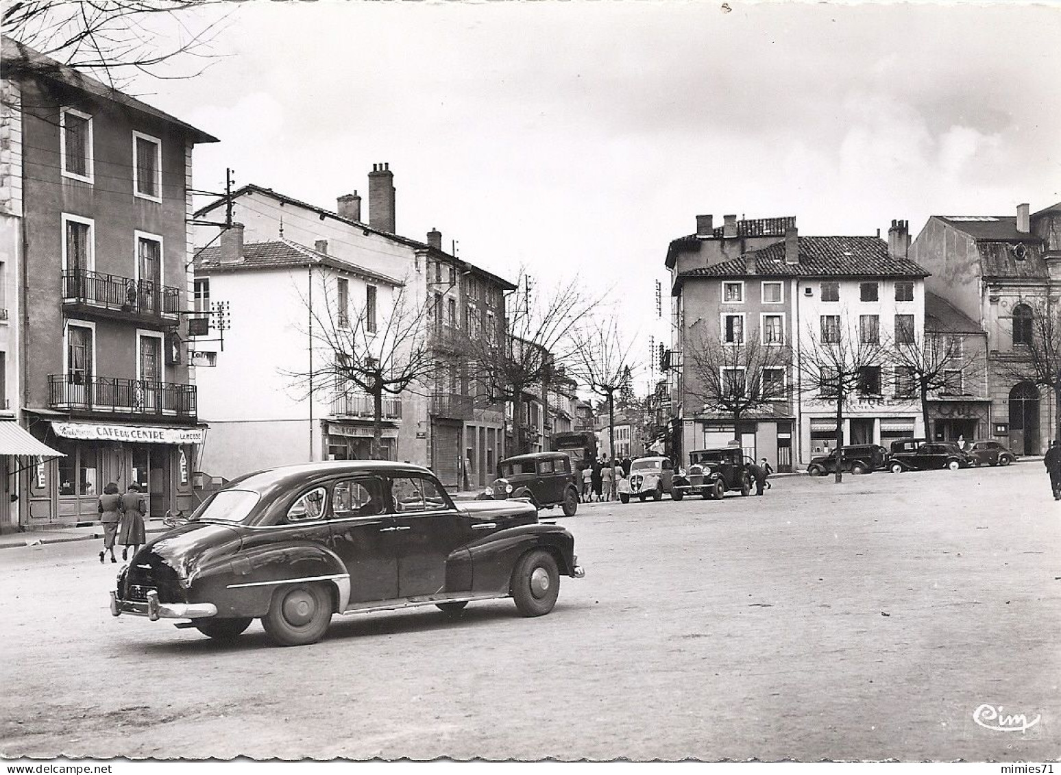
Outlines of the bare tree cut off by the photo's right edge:
<svg viewBox="0 0 1061 775">
<path fill-rule="evenodd" d="M 1015 314 L 1020 305 L 1024 314 Z M 1061 444 L 1061 304 L 1022 299 L 1014 305 L 1013 351 L 999 358 L 1001 371 L 1054 393 L 1054 439 Z"/>
</svg>

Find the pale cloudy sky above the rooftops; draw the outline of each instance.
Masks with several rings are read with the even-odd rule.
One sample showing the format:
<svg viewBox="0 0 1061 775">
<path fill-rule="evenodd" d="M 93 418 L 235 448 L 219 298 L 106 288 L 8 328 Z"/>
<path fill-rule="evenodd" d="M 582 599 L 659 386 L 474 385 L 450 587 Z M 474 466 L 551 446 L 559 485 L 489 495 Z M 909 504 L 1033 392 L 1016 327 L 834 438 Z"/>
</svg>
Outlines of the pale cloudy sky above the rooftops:
<svg viewBox="0 0 1061 775">
<path fill-rule="evenodd" d="M 1061 200 L 1061 6 L 222 3 L 215 56 L 136 93 L 216 136 L 194 181 L 315 205 L 395 174 L 398 232 L 539 289 L 576 275 L 648 360 L 697 214 L 916 234 Z M 180 63 L 174 63 L 179 68 Z M 197 66 L 197 65 L 196 65 Z M 363 213 L 365 211 L 363 210 Z M 655 281 L 663 283 L 663 318 Z M 643 374 L 644 384 L 650 373 Z M 639 392 L 641 392 L 639 390 Z"/>
</svg>

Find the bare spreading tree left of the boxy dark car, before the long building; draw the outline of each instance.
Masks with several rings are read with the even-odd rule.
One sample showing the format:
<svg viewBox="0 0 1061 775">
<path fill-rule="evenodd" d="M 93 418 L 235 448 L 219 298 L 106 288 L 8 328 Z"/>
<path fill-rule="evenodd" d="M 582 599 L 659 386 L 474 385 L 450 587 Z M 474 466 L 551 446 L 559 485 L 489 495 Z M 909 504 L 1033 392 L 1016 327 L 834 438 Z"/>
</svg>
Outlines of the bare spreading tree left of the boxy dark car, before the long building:
<svg viewBox="0 0 1061 775">
<path fill-rule="evenodd" d="M 508 299 L 503 331 L 469 320 L 460 347 L 468 376 L 483 386 L 480 403 L 511 404 L 514 454 L 528 448 L 521 411 L 524 398 L 534 395 L 543 405 L 549 403 L 549 389 L 574 360 L 573 328 L 597 303 L 586 296 L 577 278 L 541 297 L 521 271 L 517 290 Z"/>
</svg>

